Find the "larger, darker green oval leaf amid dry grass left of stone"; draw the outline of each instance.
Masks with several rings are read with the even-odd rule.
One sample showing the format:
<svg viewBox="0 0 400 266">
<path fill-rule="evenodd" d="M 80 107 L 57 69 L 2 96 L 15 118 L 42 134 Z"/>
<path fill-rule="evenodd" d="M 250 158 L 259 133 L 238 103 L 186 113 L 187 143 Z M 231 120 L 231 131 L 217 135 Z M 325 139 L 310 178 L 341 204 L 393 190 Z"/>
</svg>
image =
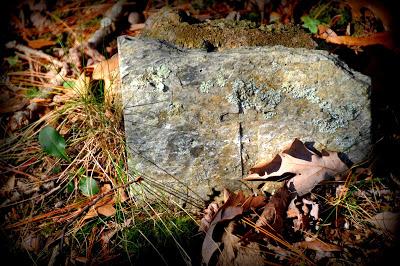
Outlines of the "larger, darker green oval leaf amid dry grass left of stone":
<svg viewBox="0 0 400 266">
<path fill-rule="evenodd" d="M 65 151 L 65 140 L 55 128 L 51 126 L 42 128 L 39 132 L 39 143 L 47 154 L 71 161 Z"/>
</svg>

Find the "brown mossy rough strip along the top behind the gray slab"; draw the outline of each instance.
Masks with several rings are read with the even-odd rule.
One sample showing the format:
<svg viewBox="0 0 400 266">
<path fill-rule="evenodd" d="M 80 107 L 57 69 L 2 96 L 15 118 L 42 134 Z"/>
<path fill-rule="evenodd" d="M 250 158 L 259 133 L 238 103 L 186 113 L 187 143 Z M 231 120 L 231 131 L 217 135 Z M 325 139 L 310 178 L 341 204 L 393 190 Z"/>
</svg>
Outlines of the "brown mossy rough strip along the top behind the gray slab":
<svg viewBox="0 0 400 266">
<path fill-rule="evenodd" d="M 315 48 L 310 35 L 293 25 L 261 26 L 251 21 L 211 20 L 189 24 L 171 8 L 155 14 L 141 34 L 165 40 L 186 48 L 236 48 L 242 46 L 272 46 Z"/>
</svg>

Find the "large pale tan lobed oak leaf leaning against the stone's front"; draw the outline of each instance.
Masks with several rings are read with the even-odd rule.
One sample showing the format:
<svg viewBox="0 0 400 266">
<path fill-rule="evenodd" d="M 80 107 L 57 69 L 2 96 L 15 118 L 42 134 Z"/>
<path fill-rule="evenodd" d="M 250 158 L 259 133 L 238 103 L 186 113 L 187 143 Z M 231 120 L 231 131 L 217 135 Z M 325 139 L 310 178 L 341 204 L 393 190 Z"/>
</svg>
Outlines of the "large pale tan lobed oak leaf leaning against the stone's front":
<svg viewBox="0 0 400 266">
<path fill-rule="evenodd" d="M 337 152 L 323 150 L 317 154 L 295 139 L 288 149 L 276 155 L 272 161 L 251 168 L 250 175 L 244 179 L 268 181 L 268 178 L 294 174 L 287 186 L 302 196 L 321 181 L 347 169 Z"/>
</svg>

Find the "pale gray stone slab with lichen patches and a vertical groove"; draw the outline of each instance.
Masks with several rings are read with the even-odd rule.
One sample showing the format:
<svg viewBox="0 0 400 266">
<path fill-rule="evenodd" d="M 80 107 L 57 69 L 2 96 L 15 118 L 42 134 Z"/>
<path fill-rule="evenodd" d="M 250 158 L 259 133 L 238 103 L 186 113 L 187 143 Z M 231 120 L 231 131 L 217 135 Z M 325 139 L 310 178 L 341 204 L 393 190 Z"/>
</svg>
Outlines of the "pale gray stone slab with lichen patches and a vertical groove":
<svg viewBox="0 0 400 266">
<path fill-rule="evenodd" d="M 370 79 L 326 51 L 207 53 L 125 36 L 118 49 L 129 167 L 166 187 L 204 199 L 237 189 L 294 138 L 354 162 L 370 150 Z"/>
</svg>

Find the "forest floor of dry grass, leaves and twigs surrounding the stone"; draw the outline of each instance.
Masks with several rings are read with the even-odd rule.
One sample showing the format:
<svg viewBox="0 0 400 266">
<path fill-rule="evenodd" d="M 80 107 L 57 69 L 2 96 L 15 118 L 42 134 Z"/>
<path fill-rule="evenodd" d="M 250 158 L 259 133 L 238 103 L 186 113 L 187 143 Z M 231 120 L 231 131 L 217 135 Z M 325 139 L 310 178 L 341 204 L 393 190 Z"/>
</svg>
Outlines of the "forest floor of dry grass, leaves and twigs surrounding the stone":
<svg viewBox="0 0 400 266">
<path fill-rule="evenodd" d="M 229 17 L 257 25 L 299 25 L 317 49 L 337 54 L 372 80 L 374 144 L 367 160 L 302 198 L 289 198 L 285 189 L 273 195 L 224 191 L 207 205 L 192 199 L 197 211 L 173 200 L 178 191 L 127 171 L 116 37 L 139 35 L 147 18 L 167 2 L 4 6 L 3 260 L 373 265 L 397 258 L 400 98 L 394 84 L 400 69 L 395 37 L 400 35 L 391 2 L 169 1 L 200 21 Z M 303 151 L 319 156 L 305 146 Z M 154 196 L 158 202 L 146 201 Z"/>
</svg>

